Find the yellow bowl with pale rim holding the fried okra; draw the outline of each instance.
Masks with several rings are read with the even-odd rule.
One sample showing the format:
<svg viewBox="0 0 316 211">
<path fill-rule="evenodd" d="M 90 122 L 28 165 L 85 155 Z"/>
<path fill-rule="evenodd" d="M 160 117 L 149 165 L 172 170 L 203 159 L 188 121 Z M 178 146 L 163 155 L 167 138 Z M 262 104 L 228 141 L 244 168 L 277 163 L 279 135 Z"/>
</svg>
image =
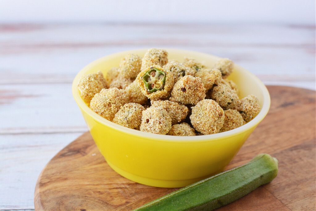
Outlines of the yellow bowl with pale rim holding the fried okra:
<svg viewBox="0 0 316 211">
<path fill-rule="evenodd" d="M 92 111 L 77 88 L 79 79 L 89 73 L 103 74 L 118 66 L 127 53 L 143 56 L 147 49 L 115 53 L 84 67 L 72 84 L 73 96 L 82 111 L 90 133 L 106 162 L 114 171 L 137 183 L 156 187 L 184 187 L 223 171 L 270 108 L 270 95 L 264 84 L 246 69 L 235 65 L 229 76 L 240 88 L 240 98 L 258 97 L 260 113 L 247 124 L 223 133 L 202 136 L 169 136 L 145 133 L 117 125 Z M 184 56 L 212 67 L 219 57 L 192 51 L 166 49 L 168 59 L 182 62 Z"/>
</svg>

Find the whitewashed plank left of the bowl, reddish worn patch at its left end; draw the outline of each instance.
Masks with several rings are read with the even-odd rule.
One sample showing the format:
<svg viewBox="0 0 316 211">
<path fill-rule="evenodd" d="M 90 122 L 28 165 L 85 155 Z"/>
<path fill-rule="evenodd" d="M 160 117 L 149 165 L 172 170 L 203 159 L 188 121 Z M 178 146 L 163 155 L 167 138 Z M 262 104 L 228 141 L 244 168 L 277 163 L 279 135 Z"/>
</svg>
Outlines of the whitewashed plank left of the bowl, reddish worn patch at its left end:
<svg viewBox="0 0 316 211">
<path fill-rule="evenodd" d="M 71 84 L 1 85 L 0 120 L 0 134 L 88 130 Z"/>
</svg>

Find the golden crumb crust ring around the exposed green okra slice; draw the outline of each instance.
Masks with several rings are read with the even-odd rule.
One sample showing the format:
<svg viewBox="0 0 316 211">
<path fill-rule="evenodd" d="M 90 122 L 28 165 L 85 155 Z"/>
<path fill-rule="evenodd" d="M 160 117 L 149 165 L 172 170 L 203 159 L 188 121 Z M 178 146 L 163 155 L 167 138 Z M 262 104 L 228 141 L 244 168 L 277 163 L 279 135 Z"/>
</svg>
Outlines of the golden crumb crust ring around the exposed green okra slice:
<svg viewBox="0 0 316 211">
<path fill-rule="evenodd" d="M 149 93 L 149 91 L 148 91 L 148 89 L 146 87 L 146 84 L 143 81 L 143 76 L 152 67 L 154 67 L 154 68 L 156 68 L 156 69 L 158 69 L 160 71 L 165 72 L 166 73 L 166 81 L 165 81 L 164 88 L 162 90 L 157 90 L 157 91 L 155 91 L 153 93 Z M 167 97 L 170 94 L 171 89 L 172 89 L 173 84 L 174 84 L 173 74 L 170 71 L 164 70 L 162 67 L 160 67 L 158 65 L 149 66 L 149 67 L 147 67 L 147 69 L 141 71 L 138 74 L 136 80 L 137 80 L 137 84 L 140 87 L 140 89 L 143 92 L 143 94 L 145 96 L 147 96 L 148 98 L 153 99 L 153 100 L 157 100 L 159 98 Z"/>
</svg>

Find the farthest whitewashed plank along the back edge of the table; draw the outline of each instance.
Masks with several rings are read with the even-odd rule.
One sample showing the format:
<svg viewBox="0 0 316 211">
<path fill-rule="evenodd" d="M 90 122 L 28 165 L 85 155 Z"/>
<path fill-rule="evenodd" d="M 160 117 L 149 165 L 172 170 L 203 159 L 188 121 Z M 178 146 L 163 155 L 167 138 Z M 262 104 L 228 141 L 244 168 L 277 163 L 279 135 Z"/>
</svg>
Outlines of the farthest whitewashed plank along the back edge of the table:
<svg viewBox="0 0 316 211">
<path fill-rule="evenodd" d="M 1 52 L 8 48 L 146 45 L 297 46 L 315 43 L 315 26 L 276 24 L 1 24 Z"/>
</svg>

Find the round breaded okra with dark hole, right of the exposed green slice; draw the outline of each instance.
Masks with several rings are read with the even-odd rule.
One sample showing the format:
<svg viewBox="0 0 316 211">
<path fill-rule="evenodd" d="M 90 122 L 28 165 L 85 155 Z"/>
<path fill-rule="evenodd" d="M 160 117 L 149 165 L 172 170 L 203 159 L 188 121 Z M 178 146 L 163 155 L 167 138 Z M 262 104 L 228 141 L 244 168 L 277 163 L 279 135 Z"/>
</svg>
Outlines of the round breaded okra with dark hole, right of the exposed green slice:
<svg viewBox="0 0 316 211">
<path fill-rule="evenodd" d="M 205 98 L 205 88 L 201 78 L 184 76 L 174 84 L 171 91 L 171 101 L 182 104 L 197 104 Z"/>
</svg>

